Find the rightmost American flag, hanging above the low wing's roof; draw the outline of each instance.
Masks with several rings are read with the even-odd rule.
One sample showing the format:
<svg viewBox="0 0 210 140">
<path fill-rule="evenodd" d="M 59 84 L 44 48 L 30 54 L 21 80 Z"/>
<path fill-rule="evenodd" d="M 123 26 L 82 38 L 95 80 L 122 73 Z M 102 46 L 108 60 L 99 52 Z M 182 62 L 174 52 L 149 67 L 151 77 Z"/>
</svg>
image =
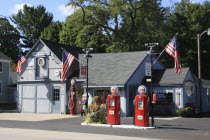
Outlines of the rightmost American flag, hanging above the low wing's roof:
<svg viewBox="0 0 210 140">
<path fill-rule="evenodd" d="M 174 59 L 174 71 L 178 74 L 182 72 L 182 67 L 179 59 L 178 45 L 176 35 L 168 43 L 165 48 L 166 52 Z"/>
</svg>

